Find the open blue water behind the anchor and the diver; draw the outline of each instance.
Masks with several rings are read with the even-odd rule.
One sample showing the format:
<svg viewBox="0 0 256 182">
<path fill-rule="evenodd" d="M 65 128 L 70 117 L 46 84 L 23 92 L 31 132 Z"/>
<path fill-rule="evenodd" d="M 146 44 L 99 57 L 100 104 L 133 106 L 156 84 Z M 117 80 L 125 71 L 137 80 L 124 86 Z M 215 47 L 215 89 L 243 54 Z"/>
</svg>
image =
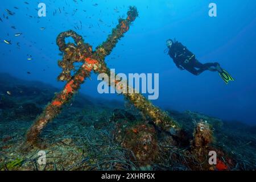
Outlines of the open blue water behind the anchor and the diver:
<svg viewBox="0 0 256 182">
<path fill-rule="evenodd" d="M 81 21 L 82 28 L 75 31 L 86 36 L 85 41 L 96 48 L 117 25 L 119 16 L 126 17 L 128 7 L 133 5 L 139 17 L 106 57 L 109 68 L 122 73 L 159 73 L 159 98 L 152 102 L 163 109 L 199 111 L 222 119 L 256 123 L 255 1 L 77 0 L 76 3 L 49 0 L 40 1 L 47 6 L 47 16 L 43 18 L 38 18 L 35 10 L 39 2 L 26 1 L 28 5 L 24 1 L 1 1 L 0 72 L 47 82 L 61 90 L 64 83 L 56 80 L 61 72 L 57 66 L 57 60 L 61 59 L 57 35 L 75 30 Z M 217 5 L 217 17 L 208 16 L 210 2 Z M 5 9 L 15 15 L 3 18 L 3 14 L 7 15 Z M 46 30 L 40 30 L 41 27 Z M 16 33 L 23 35 L 15 37 Z M 216 72 L 193 76 L 180 71 L 163 52 L 168 38 L 179 40 L 202 63 L 219 62 L 235 81 L 226 85 Z M 11 40 L 12 44 L 3 43 L 3 40 Z M 18 42 L 20 49 L 16 45 Z M 28 61 L 27 55 L 33 60 Z M 117 94 L 98 94 L 97 84 L 94 75 L 92 81 L 87 80 L 82 85 L 80 92 L 109 100 L 123 99 Z"/>
</svg>

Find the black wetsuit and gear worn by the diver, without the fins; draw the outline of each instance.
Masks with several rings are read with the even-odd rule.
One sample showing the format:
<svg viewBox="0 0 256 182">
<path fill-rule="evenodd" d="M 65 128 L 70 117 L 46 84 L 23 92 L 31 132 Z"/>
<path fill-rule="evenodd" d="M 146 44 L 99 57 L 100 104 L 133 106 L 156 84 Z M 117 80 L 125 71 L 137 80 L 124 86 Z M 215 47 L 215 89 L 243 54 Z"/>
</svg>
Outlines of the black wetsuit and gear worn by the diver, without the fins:
<svg viewBox="0 0 256 182">
<path fill-rule="evenodd" d="M 171 48 L 169 49 L 168 54 L 174 60 L 174 63 L 176 64 L 177 68 L 184 68 L 187 71 L 191 72 L 193 75 L 199 75 L 200 73 L 206 70 L 217 71 L 215 67 L 217 66 L 218 63 L 200 63 L 196 59 L 196 56 L 193 55 L 193 53 L 189 51 L 187 47 L 183 46 L 180 42 L 173 43 Z"/>
</svg>

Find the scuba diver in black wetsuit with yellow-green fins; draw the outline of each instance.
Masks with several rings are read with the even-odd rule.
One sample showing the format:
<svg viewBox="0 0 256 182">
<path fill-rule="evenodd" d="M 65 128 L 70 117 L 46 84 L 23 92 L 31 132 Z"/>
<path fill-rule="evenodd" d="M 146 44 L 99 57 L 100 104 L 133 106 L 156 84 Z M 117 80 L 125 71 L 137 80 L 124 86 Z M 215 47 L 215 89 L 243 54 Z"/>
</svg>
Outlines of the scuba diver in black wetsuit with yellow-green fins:
<svg viewBox="0 0 256 182">
<path fill-rule="evenodd" d="M 204 71 L 218 72 L 221 78 L 226 84 L 229 81 L 234 81 L 232 76 L 229 75 L 224 69 L 220 67 L 219 63 L 200 63 L 196 56 L 183 46 L 180 42 L 177 42 L 175 39 L 168 39 L 166 41 L 166 46 L 169 48 L 168 55 L 174 60 L 176 67 L 180 70 L 186 69 L 188 72 L 191 72 L 193 75 L 200 75 Z"/>
</svg>

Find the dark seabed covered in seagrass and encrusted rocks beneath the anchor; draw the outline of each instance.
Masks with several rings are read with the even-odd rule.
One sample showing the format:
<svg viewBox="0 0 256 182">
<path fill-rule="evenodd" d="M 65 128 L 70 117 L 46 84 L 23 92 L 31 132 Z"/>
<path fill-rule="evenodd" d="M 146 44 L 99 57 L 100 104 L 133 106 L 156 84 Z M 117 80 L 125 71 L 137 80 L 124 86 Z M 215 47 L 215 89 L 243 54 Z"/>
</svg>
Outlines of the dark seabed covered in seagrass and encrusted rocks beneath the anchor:
<svg viewBox="0 0 256 182">
<path fill-rule="evenodd" d="M 201 113 L 167 110 L 187 140 L 180 142 L 154 125 L 133 104 L 97 100 L 80 93 L 40 134 L 47 164 L 39 165 L 40 148 L 20 150 L 32 121 L 57 88 L 0 74 L 1 170 L 253 170 L 256 127 L 224 122 Z M 8 94 L 7 91 L 11 93 Z M 36 94 L 33 95 L 32 93 Z M 33 109 L 21 109 L 27 103 Z M 16 110 L 19 114 L 13 115 Z M 205 122 L 207 121 L 207 122 Z M 209 150 L 217 153 L 210 166 Z"/>
</svg>

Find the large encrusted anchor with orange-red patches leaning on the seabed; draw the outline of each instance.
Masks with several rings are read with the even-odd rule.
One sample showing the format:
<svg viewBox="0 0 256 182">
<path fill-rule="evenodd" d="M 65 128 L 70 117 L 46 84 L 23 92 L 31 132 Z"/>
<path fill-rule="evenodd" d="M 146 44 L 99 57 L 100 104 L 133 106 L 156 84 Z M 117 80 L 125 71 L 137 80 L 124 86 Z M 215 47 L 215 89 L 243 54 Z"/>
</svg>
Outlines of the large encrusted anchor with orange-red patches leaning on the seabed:
<svg viewBox="0 0 256 182">
<path fill-rule="evenodd" d="M 70 30 L 61 33 L 57 37 L 57 45 L 61 52 L 63 52 L 63 60 L 59 61 L 59 66 L 63 68 L 58 79 L 60 81 L 67 81 L 64 89 L 56 94 L 52 102 L 49 103 L 44 109 L 43 113 L 39 115 L 34 124 L 31 126 L 27 133 L 27 142 L 36 145 L 41 131 L 47 125 L 49 121 L 54 119 L 63 108 L 63 105 L 67 104 L 73 97 L 73 95 L 79 90 L 80 85 L 84 83 L 86 78 L 90 76 L 90 73 L 106 73 L 110 77 L 110 69 L 106 67 L 104 61 L 112 49 L 117 44 L 118 40 L 122 38 L 123 34 L 130 28 L 130 24 L 137 18 L 138 12 L 135 7 L 130 7 L 127 13 L 126 19 L 119 19 L 119 24 L 109 35 L 108 39 L 96 48 L 96 51 L 92 50 L 92 46 L 88 43 L 84 43 L 82 36 L 76 34 L 76 32 Z M 65 43 L 65 39 L 71 37 L 75 40 L 73 43 Z M 83 63 L 75 75 L 71 75 L 74 71 L 74 63 Z M 110 86 L 117 86 L 119 81 L 108 81 Z M 119 85 L 120 86 L 120 85 Z M 129 90 L 133 90 L 126 85 Z M 136 92 L 122 93 L 126 100 L 130 101 L 137 109 L 141 110 L 143 114 L 147 115 L 155 123 L 155 126 L 164 131 L 171 133 L 172 135 L 179 135 L 180 127 L 177 123 L 168 116 L 167 113 L 161 111 L 158 107 L 152 105 L 142 94 Z"/>
</svg>

